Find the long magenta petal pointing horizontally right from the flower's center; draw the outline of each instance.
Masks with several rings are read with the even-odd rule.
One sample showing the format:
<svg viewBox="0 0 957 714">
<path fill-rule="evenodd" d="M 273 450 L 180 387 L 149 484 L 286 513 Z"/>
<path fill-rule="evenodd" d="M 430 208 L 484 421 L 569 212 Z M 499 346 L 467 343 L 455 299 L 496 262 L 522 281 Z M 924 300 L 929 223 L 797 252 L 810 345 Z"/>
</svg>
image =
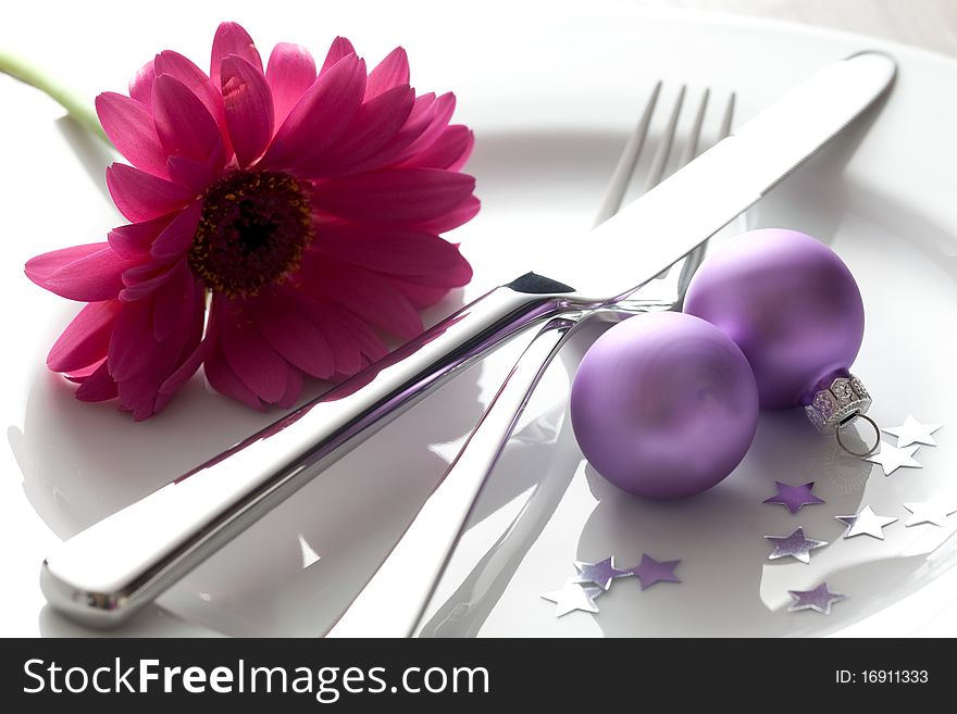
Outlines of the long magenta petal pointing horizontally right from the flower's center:
<svg viewBox="0 0 957 714">
<path fill-rule="evenodd" d="M 475 179 L 439 168 L 393 168 L 316 183 L 312 204 L 370 223 L 413 226 L 439 218 L 472 196 Z"/>
</svg>

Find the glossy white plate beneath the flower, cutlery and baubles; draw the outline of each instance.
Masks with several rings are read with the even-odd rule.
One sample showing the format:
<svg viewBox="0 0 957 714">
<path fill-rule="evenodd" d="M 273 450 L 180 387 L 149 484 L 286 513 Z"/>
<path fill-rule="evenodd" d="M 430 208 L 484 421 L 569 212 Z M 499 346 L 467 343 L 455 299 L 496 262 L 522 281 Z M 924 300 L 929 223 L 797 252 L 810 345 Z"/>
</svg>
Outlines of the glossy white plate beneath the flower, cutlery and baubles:
<svg viewBox="0 0 957 714">
<path fill-rule="evenodd" d="M 949 378 L 957 358 L 950 327 L 957 305 L 957 63 L 861 37 L 688 13 L 549 16 L 547 5 L 536 5 L 519 15 L 465 20 L 437 7 L 411 16 L 383 5 L 387 16 L 369 23 L 362 12 L 345 8 L 320 15 L 297 7 L 295 22 L 290 13 L 263 17 L 254 8 L 231 12 L 260 47 L 295 40 L 319 54 L 338 32 L 374 59 L 401 41 L 419 87 L 459 95 L 458 118 L 477 135 L 469 168 L 484 209 L 455 239 L 463 242 L 476 277 L 432 320 L 514 277 L 520 251 L 540 250 L 550 235 L 587 228 L 654 79 L 710 86 L 716 97 L 736 90 L 744 121 L 828 62 L 865 47 L 892 52 L 900 64 L 897 85 L 867 131 L 856 127 L 843 137 L 751 211 L 748 223 L 817 235 L 852 267 L 868 315 L 855 369 L 875 396 L 872 414 L 886 426 L 908 413 L 945 425 L 941 446 L 918 454 L 924 468 L 885 478 L 877 466 L 871 473 L 868 464 L 841 456 L 800 414 L 765 415 L 745 462 L 720 486 L 675 503 L 639 501 L 591 473 L 566 425 L 572 349 L 530 405 L 531 416 L 439 587 L 427 628 L 482 636 L 957 634 L 950 596 L 957 571 L 949 569 L 957 553 L 945 542 L 957 516 L 946 528 L 904 528 L 902 508 L 903 501 L 957 496 L 950 436 L 957 402 Z M 303 18 L 303 12 L 316 16 Z M 173 5 L 169 14 L 120 33 L 132 21 L 103 14 L 112 20 L 89 25 L 83 42 L 97 46 L 125 35 L 109 55 L 75 55 L 82 45 L 67 28 L 82 23 L 79 16 L 62 18 L 54 30 L 60 35 L 47 37 L 40 33 L 48 25 L 23 15 L 14 43 L 35 49 L 44 38 L 52 48 L 47 63 L 59 62 L 92 91 L 103 83 L 119 88 L 129 70 L 161 47 L 204 57 L 219 20 L 206 8 Z M 321 29 L 303 36 L 303 27 Z M 44 371 L 46 350 L 75 309 L 32 286 L 21 267 L 45 250 L 100 240 L 117 223 L 102 195 L 109 156 L 55 121 L 59 110 L 35 92 L 0 78 L 0 97 L 5 108 L 17 108 L 3 113 L 0 129 L 20 137 L 0 175 L 8 333 L 0 409 L 11 447 L 0 480 L 0 634 L 87 634 L 44 605 L 37 573 L 55 539 L 148 493 L 275 415 L 245 411 L 195 379 L 162 415 L 134 424 L 111 405 L 75 402 L 72 388 Z M 574 347 L 580 352 L 585 346 L 580 340 Z M 384 429 L 121 634 L 321 632 L 442 476 L 511 356 L 506 351 L 463 375 Z M 763 505 L 775 479 L 815 480 L 826 504 L 799 516 Z M 883 542 L 841 539 L 833 516 L 865 503 L 902 518 Z M 761 536 L 797 525 L 832 544 L 817 551 L 810 565 L 768 562 Z M 683 584 L 643 592 L 635 583 L 618 583 L 596 616 L 557 619 L 538 598 L 573 574 L 575 559 L 613 554 L 630 566 L 643 552 L 682 559 Z M 830 617 L 786 612 L 788 589 L 822 579 L 849 599 Z"/>
</svg>

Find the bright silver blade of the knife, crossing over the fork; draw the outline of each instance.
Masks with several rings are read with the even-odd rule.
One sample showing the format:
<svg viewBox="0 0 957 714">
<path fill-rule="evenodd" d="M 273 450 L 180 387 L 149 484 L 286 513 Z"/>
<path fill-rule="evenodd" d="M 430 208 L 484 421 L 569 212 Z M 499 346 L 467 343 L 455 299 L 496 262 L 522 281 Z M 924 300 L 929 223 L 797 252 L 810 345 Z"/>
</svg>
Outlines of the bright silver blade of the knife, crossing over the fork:
<svg viewBox="0 0 957 714">
<path fill-rule="evenodd" d="M 582 295 L 633 291 L 636 278 L 657 275 L 794 172 L 894 75 L 893 60 L 878 52 L 826 66 L 596 227 L 586 241 L 573 237 L 536 256 L 536 272 Z M 597 260 L 569 260 L 585 247 Z M 625 255 L 631 260 L 620 260 Z"/>
</svg>

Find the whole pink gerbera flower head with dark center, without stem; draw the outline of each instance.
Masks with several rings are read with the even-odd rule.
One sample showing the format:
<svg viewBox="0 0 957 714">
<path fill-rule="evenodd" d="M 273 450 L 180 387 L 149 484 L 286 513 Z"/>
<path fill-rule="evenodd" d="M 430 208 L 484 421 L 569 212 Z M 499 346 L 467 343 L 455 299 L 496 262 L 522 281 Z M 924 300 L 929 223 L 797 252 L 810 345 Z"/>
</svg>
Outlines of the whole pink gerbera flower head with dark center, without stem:
<svg viewBox="0 0 957 714">
<path fill-rule="evenodd" d="M 401 48 L 366 75 L 345 38 L 318 73 L 281 43 L 263 72 L 246 30 L 224 23 L 209 75 L 161 52 L 129 97 L 97 98 L 133 164 L 107 170 L 129 224 L 26 265 L 89 303 L 48 366 L 80 384 L 77 399 L 119 397 L 142 419 L 200 364 L 214 389 L 264 409 L 291 405 L 306 375 L 378 360 L 376 328 L 415 336 L 419 310 L 472 275 L 438 236 L 478 210 L 453 108 L 451 93 L 415 95 Z"/>
</svg>

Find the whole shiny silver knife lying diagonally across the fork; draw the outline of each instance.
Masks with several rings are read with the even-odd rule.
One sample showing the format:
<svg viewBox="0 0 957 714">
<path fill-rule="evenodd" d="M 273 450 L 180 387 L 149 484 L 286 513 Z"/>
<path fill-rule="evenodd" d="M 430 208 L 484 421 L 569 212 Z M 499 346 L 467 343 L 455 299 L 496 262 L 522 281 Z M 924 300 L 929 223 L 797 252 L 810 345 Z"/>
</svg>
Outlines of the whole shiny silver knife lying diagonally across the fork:
<svg viewBox="0 0 957 714">
<path fill-rule="evenodd" d="M 122 623 L 328 464 L 507 338 L 641 288 L 850 124 L 894 75 L 894 61 L 878 52 L 825 67 L 589 234 L 549 240 L 536 265 L 529 266 L 534 270 L 64 541 L 40 573 L 50 604 L 88 625 Z"/>
</svg>

